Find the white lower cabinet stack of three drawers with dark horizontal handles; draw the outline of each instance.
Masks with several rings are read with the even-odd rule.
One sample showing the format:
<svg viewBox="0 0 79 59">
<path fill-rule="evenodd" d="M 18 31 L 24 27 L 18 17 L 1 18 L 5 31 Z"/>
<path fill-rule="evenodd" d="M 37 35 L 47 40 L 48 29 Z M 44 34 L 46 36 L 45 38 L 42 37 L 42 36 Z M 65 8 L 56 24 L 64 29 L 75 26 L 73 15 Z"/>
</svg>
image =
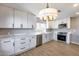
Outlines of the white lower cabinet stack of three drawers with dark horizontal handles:
<svg viewBox="0 0 79 59">
<path fill-rule="evenodd" d="M 14 39 L 15 54 L 22 53 L 29 49 L 29 40 L 25 36 L 16 36 Z"/>
</svg>

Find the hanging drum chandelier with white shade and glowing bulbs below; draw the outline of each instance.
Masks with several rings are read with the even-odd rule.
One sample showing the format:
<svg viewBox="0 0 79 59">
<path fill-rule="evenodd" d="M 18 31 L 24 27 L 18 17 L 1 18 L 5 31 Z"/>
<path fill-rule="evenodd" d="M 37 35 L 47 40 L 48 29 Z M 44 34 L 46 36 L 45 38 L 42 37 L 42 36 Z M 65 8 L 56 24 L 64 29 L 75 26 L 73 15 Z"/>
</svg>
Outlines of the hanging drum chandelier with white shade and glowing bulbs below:
<svg viewBox="0 0 79 59">
<path fill-rule="evenodd" d="M 46 4 L 46 8 L 42 9 L 38 17 L 44 21 L 53 21 L 57 18 L 59 10 L 55 8 L 50 8 L 48 3 Z"/>
</svg>

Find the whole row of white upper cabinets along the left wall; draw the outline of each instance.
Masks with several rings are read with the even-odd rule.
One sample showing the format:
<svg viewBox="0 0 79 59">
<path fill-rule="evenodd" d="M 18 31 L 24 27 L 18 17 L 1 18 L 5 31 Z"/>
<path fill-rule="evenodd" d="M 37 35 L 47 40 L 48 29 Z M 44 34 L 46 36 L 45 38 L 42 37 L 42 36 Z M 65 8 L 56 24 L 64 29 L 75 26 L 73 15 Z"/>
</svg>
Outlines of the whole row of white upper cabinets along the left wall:
<svg viewBox="0 0 79 59">
<path fill-rule="evenodd" d="M 35 28 L 35 25 L 33 14 L 0 5 L 0 28 Z"/>
</svg>

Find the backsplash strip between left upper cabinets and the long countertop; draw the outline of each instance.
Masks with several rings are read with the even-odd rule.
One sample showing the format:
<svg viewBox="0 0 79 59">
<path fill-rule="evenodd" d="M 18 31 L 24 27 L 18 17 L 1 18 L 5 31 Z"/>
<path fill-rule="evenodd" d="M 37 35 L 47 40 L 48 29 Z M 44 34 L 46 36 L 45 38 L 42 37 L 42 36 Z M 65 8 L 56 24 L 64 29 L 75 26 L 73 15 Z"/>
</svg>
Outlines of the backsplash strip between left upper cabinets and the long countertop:
<svg viewBox="0 0 79 59">
<path fill-rule="evenodd" d="M 0 29 L 0 35 L 31 33 L 34 29 Z"/>
</svg>

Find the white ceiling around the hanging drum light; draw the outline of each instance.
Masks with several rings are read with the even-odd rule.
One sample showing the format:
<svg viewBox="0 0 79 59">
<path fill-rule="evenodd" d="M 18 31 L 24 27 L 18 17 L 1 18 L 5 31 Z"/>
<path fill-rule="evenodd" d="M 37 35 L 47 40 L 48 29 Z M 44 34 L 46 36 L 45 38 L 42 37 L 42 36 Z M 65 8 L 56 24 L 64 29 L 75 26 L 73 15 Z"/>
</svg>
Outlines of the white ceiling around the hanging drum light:
<svg viewBox="0 0 79 59">
<path fill-rule="evenodd" d="M 38 15 L 39 11 L 46 7 L 46 3 L 6 3 L 3 5 L 24 11 L 28 10 L 35 15 Z M 75 13 L 79 11 L 79 6 L 73 7 L 73 3 L 49 3 L 49 6 L 61 10 L 57 17 L 58 19 L 78 16 Z"/>
</svg>

